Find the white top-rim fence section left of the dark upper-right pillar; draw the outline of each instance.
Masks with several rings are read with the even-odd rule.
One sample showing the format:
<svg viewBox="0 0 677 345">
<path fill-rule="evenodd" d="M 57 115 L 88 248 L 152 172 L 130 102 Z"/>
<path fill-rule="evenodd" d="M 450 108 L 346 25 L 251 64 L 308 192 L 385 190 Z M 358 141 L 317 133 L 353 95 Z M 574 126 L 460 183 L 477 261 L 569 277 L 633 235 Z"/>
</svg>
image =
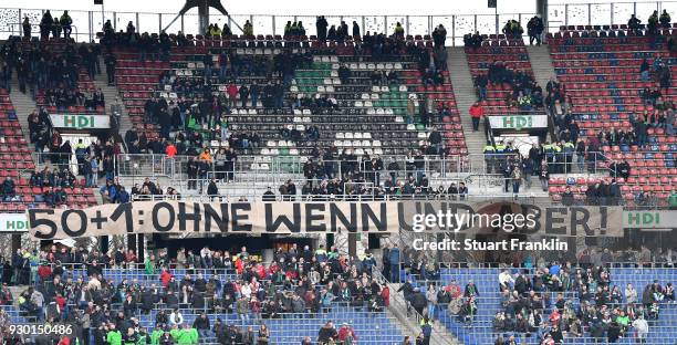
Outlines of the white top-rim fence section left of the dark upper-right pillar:
<svg viewBox="0 0 677 345">
<path fill-rule="evenodd" d="M 0 22 L 0 35 L 18 35 L 21 34 L 21 23 L 25 15 L 29 17 L 31 24 L 40 22 L 42 14 L 46 9 L 21 9 L 8 8 L 2 9 L 4 12 L 0 18 L 8 18 L 8 22 Z M 63 10 L 50 9 L 54 14 L 63 12 Z M 53 15 L 54 15 L 53 14 Z M 110 20 L 113 29 L 117 32 L 125 30 L 128 22 L 136 28 L 137 32 L 160 32 L 166 24 L 169 24 L 176 17 L 174 13 L 152 13 L 152 12 L 121 12 L 121 11 L 77 11 L 69 10 L 69 14 L 74 23 L 79 23 L 81 28 L 85 28 L 80 32 L 74 32 L 73 35 L 80 41 L 92 41 L 96 39 L 96 33 L 102 31 L 103 24 Z M 321 15 L 323 13 L 319 13 Z M 438 24 L 444 24 L 447 28 L 447 39 L 452 42 L 450 45 L 462 44 L 464 34 L 480 31 L 482 33 L 500 33 L 502 24 L 511 19 L 518 20 L 523 28 L 527 28 L 528 21 L 534 13 L 499 13 L 497 14 L 436 14 L 436 15 L 364 15 L 364 14 L 343 14 L 343 15 L 324 15 L 331 24 L 338 24 L 341 21 L 351 23 L 357 22 L 362 32 L 372 33 L 393 33 L 397 22 L 402 23 L 405 32 L 412 34 L 431 34 Z M 253 25 L 254 34 L 283 34 L 284 25 L 288 21 L 302 21 L 305 23 L 308 35 L 314 35 L 316 15 L 278 15 L 278 14 L 231 14 L 225 17 L 221 14 L 211 14 L 209 22 L 217 23 L 221 28 L 228 23 L 230 28 L 237 24 L 243 24 L 249 21 Z M 86 23 L 86 25 L 84 24 Z M 167 32 L 176 33 L 181 31 L 187 34 L 198 33 L 199 18 L 197 14 L 187 13 L 179 17 L 179 20 L 171 23 Z M 235 32 L 236 34 L 238 32 Z"/>
</svg>

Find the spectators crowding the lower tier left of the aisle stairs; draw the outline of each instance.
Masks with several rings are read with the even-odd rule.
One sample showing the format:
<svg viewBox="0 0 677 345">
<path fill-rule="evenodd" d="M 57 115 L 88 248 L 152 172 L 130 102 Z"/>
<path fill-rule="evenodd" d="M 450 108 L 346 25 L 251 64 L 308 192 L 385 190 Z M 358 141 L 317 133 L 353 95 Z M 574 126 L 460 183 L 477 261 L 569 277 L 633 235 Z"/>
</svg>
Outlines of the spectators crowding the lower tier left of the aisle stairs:
<svg viewBox="0 0 677 345">
<path fill-rule="evenodd" d="M 375 266 L 368 251 L 354 259 L 322 245 L 314 251 L 296 244 L 280 248 L 268 264 L 244 247 L 237 253 L 180 249 L 173 258 L 167 250 L 158 250 L 142 260 L 132 250 L 103 253 L 52 245 L 32 253 L 20 249 L 11 262 L 6 261 L 1 295 L 3 304 L 10 304 L 14 297 L 8 284 L 31 283 L 17 296 L 20 311 L 39 322 L 73 324 L 72 341 L 77 338 L 80 344 L 117 344 L 119 336 L 135 344 L 139 339 L 155 344 L 158 337 L 160 344 L 197 344 L 202 338 L 220 344 L 268 344 L 270 333 L 262 320 L 321 317 L 344 306 L 383 312 L 389 304 L 389 290 L 372 274 Z M 137 269 L 145 276 L 115 284 L 105 275 L 114 271 L 105 269 Z M 146 330 L 140 318 L 150 311 L 156 311 L 155 322 Z M 183 313 L 196 317 L 188 322 Z M 220 317 L 210 321 L 207 314 L 235 314 L 261 326 L 240 331 Z M 303 344 L 357 339 L 347 323 L 335 330 L 330 321 L 315 341 L 306 337 Z"/>
</svg>

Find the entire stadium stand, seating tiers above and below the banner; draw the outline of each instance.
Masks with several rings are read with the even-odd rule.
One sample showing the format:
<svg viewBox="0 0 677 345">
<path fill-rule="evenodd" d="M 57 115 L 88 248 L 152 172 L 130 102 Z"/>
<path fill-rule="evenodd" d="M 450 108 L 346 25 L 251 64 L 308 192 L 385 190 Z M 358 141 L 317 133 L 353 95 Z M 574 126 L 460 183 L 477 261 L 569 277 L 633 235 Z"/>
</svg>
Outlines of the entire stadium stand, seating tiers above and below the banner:
<svg viewBox="0 0 677 345">
<path fill-rule="evenodd" d="M 70 25 L 67 15 L 64 20 Z M 17 117 L 29 115 L 17 114 L 6 90 L 11 67 L 9 75 L 3 71 L 0 211 L 85 208 L 97 205 L 93 187 L 101 187 L 104 203 L 150 200 L 152 195 L 211 198 L 221 195 L 223 185 L 217 187 L 217 180 L 232 181 L 232 171 L 290 172 L 294 178 L 278 189 L 284 201 L 356 201 L 360 194 L 376 199 L 467 198 L 465 185 L 457 188 L 445 179 L 434 189 L 426 175 L 445 169 L 427 159 L 465 165 L 470 154 L 449 80 L 454 71 L 446 69 L 439 38 L 404 35 L 399 24 L 393 36 L 351 38 L 343 28 L 345 32 L 329 38 L 306 36 L 296 23 L 294 33 L 290 28 L 284 36 L 232 35 L 218 27 L 209 35 L 139 34 L 129 22 L 126 32 L 104 28 L 101 44 L 76 45 L 48 39 L 60 24 L 50 25 L 41 28 L 39 42 L 25 38 L 3 48 L 4 56 L 61 53 L 73 61 L 65 62 L 69 71 L 56 85 L 19 67 L 34 77 L 29 88 L 40 107 L 30 115 L 29 128 L 19 125 Z M 487 85 L 480 91 L 487 114 L 541 112 L 544 103 L 553 124 L 553 144 L 534 146 L 533 156 L 501 145 L 506 156 L 496 158 L 501 161 L 496 172 L 504 174 L 500 182 L 506 182 L 506 192 L 510 180 L 523 178 L 514 171 L 523 170 L 539 176 L 544 194 L 564 206 L 677 206 L 674 31 L 665 28 L 649 35 L 653 30 L 583 25 L 548 34 L 556 79 L 545 86 L 546 96 L 534 82 L 521 29 L 468 36 L 465 53 L 476 84 Z M 114 59 L 105 58 L 115 72 L 108 83 L 117 86 L 133 123 L 119 143 L 124 148 L 116 133 L 100 143 L 83 135 L 77 147 L 66 145 L 49 124 L 32 122 L 54 113 L 106 113 L 94 85 L 100 48 L 113 53 Z M 39 64 L 32 58 L 25 61 Z M 20 84 L 25 82 L 22 73 Z M 52 155 L 37 155 L 34 161 L 22 129 L 29 130 L 31 144 L 49 146 Z M 115 175 L 127 167 L 144 169 L 135 165 L 143 161 L 138 157 L 171 161 L 180 167 L 180 182 L 187 184 L 163 189 L 149 178 L 139 182 L 133 172 L 134 187 L 123 186 L 129 181 Z M 302 169 L 272 169 L 280 163 Z M 402 166 L 393 169 L 390 164 Z M 73 174 L 74 166 L 84 179 Z M 205 188 L 197 188 L 198 180 Z M 271 180 L 278 182 L 264 181 Z M 298 181 L 306 184 L 300 188 L 303 199 L 295 197 Z M 376 188 L 348 191 L 351 182 Z M 248 189 L 260 187 L 256 181 Z M 519 186 L 517 190 L 515 196 Z M 354 195 L 336 197 L 344 192 Z M 272 201 L 265 198 L 274 200 L 274 192 L 262 196 L 262 201 Z M 3 258 L 0 327 L 67 322 L 76 325 L 73 342 L 85 345 L 412 344 L 402 342 L 408 330 L 388 311 L 390 288 L 396 288 L 393 293 L 404 292 L 407 312 L 414 311 L 420 322 L 417 345 L 429 344 L 437 323 L 462 344 L 598 344 L 603 338 L 629 344 L 640 336 L 647 344 L 677 342 L 671 250 L 652 255 L 643 247 L 642 258 L 628 260 L 604 251 L 595 260 L 579 258 L 575 265 L 560 259 L 533 263 L 530 257 L 498 268 L 412 263 L 405 254 L 408 245 L 402 255 L 386 248 L 381 263 L 368 251 L 348 258 L 335 248 L 292 245 L 265 263 L 246 248 L 235 255 L 180 249 L 173 258 L 166 250 L 149 249 L 145 260 L 122 248 L 110 253 L 62 244 L 35 253 L 24 248 Z M 389 282 L 383 278 L 390 274 L 396 276 Z M 634 296 L 632 289 L 625 290 L 628 284 L 637 290 Z M 12 291 L 19 291 L 15 297 Z M 46 341 L 73 344 L 55 336 Z"/>
</svg>

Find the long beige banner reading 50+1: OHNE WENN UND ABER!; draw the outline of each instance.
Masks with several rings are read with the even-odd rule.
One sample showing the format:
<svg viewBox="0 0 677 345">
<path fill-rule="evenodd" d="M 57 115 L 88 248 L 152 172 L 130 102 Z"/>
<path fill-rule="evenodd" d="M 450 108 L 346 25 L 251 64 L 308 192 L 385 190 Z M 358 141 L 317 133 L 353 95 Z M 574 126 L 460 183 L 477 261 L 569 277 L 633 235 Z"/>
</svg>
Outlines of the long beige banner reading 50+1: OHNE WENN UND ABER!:
<svg viewBox="0 0 677 345">
<path fill-rule="evenodd" d="M 542 207 L 517 202 L 183 202 L 138 201 L 83 210 L 31 209 L 35 239 L 166 233 L 300 234 L 459 232 L 623 237 L 621 207 Z"/>
</svg>

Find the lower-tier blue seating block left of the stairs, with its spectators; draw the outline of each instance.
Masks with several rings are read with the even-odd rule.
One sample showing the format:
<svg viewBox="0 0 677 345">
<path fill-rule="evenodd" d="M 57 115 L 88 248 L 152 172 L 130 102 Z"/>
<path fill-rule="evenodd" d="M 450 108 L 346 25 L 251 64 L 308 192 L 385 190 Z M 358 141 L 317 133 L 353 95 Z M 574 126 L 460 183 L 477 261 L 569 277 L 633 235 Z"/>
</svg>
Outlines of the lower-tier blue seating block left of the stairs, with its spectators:
<svg viewBox="0 0 677 345">
<path fill-rule="evenodd" d="M 388 288 L 375 276 L 372 280 L 368 269 L 375 264 L 373 257 L 351 263 L 333 249 L 313 253 L 308 247 L 298 250 L 295 245 L 279 250 L 275 257 L 275 262 L 263 266 L 244 248 L 232 260 L 228 252 L 181 249 L 177 258 L 169 259 L 163 252 L 140 263 L 132 252 L 104 257 L 83 249 L 52 247 L 35 259 L 21 253 L 12 258 L 18 264 L 40 260 L 39 270 L 35 274 L 18 268 L 15 274 L 6 274 L 3 302 L 18 300 L 18 310 L 6 309 L 18 322 L 71 320 L 73 313 L 60 313 L 55 303 L 62 311 L 90 304 L 91 327 L 74 334 L 85 344 L 105 338 L 111 324 L 117 330 L 137 325 L 148 334 L 158 327 L 175 330 L 179 325 L 180 330 L 186 324 L 198 330 L 200 344 L 244 344 L 241 336 L 248 327 L 262 337 L 261 325 L 268 327 L 268 342 L 274 344 L 296 344 L 304 336 L 344 342 L 348 330 L 353 341 L 363 344 L 396 344 L 402 339 L 402 331 L 384 310 Z M 308 258 L 310 269 L 298 266 L 296 257 L 301 264 Z M 25 284 L 29 280 L 33 286 L 22 290 L 20 296 L 8 295 L 8 284 Z M 104 305 L 107 309 L 100 309 Z M 206 324 L 197 321 L 200 314 L 208 315 Z M 337 330 L 327 320 L 334 320 Z M 82 325 L 77 321 L 74 324 Z M 333 334 L 323 333 L 324 327 Z"/>
</svg>

